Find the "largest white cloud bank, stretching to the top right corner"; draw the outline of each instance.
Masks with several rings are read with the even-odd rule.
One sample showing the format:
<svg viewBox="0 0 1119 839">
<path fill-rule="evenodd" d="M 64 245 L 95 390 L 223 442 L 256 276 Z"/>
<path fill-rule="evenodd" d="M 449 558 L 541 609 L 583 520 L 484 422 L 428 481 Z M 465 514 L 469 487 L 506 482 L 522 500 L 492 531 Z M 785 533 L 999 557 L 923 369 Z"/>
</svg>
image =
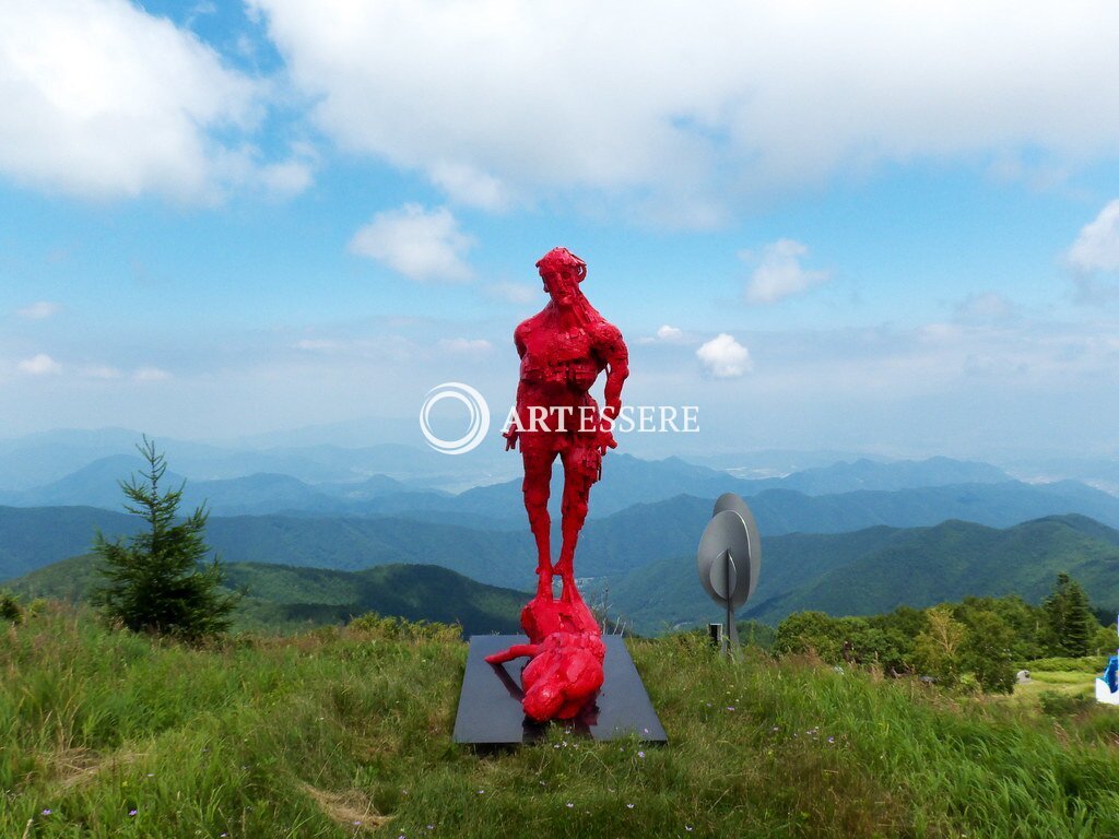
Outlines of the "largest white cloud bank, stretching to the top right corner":
<svg viewBox="0 0 1119 839">
<path fill-rule="evenodd" d="M 1109 0 L 250 8 L 319 128 L 455 200 L 442 168 L 529 202 L 590 188 L 709 221 L 727 191 L 884 161 L 1033 150 L 1059 169 L 1119 147 L 1119 91 L 1100 82 L 1116 72 Z"/>
</svg>

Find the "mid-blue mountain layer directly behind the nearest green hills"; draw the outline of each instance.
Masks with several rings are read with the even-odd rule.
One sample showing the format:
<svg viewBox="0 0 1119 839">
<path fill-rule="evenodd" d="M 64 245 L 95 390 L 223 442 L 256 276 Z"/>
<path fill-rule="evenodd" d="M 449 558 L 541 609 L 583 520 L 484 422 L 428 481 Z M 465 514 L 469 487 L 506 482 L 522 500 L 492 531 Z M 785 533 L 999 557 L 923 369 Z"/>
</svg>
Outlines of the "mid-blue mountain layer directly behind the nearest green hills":
<svg viewBox="0 0 1119 839">
<path fill-rule="evenodd" d="M 725 487 L 723 482 L 716 489 Z M 485 502 L 487 496 L 482 490 L 441 499 L 455 502 L 470 496 L 470 502 L 463 505 L 467 509 L 458 511 L 408 510 L 365 517 L 214 516 L 207 539 L 227 562 L 341 571 L 421 563 L 440 565 L 493 585 L 528 587 L 535 550 L 519 499 L 516 506 L 507 500 L 497 507 L 493 496 L 500 498 L 508 490 L 486 489 L 493 493 L 488 496 L 490 503 Z M 370 502 L 377 500 L 373 498 Z M 623 574 L 657 559 L 693 553 L 711 516 L 712 500 L 712 497 L 678 496 L 589 520 L 580 541 L 580 573 Z M 1008 481 L 816 497 L 791 490 L 767 490 L 747 500 L 762 534 L 768 537 L 845 532 L 876 525 L 920 527 L 947 519 L 1007 527 L 1070 512 L 1119 526 L 1119 499 L 1071 482 L 1031 486 Z M 487 511 L 491 515 L 486 515 Z M 558 518 L 553 522 L 555 527 Z M 133 519 L 82 507 L 0 507 L 0 578 L 85 553 L 95 527 L 110 536 L 132 532 L 137 526 Z M 554 538 L 558 545 L 558 534 Z"/>
</svg>

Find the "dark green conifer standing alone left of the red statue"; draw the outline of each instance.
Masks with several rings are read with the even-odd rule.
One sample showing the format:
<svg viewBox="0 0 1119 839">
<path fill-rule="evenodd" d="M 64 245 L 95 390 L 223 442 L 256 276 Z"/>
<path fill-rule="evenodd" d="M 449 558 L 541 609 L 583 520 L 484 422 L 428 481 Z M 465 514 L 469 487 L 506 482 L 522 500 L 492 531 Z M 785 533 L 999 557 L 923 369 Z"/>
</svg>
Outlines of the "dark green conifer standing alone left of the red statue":
<svg viewBox="0 0 1119 839">
<path fill-rule="evenodd" d="M 137 445 L 148 463 L 143 480 L 121 481 L 129 512 L 147 527 L 135 536 L 109 541 L 98 530 L 93 553 L 101 559 L 104 585 L 93 601 L 110 621 L 135 632 L 151 632 L 198 641 L 229 628 L 237 597 L 220 590 L 225 574 L 215 557 L 203 564 L 209 547 L 204 539 L 209 513 L 205 505 L 178 518 L 184 482 L 177 490 L 161 490 L 167 471 L 163 455 L 147 436 Z"/>
</svg>

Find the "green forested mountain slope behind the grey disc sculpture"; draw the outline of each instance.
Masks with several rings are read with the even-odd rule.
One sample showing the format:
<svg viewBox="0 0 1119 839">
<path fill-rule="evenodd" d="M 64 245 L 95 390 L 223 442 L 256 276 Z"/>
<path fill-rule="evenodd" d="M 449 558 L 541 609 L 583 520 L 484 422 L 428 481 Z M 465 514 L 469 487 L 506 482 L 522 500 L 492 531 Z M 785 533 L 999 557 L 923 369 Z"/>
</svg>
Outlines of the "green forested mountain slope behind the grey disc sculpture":
<svg viewBox="0 0 1119 839">
<path fill-rule="evenodd" d="M 1084 586 L 1093 606 L 1119 609 L 1119 531 L 1082 516 L 1053 516 L 1005 529 L 946 521 L 793 534 L 763 540 L 758 592 L 740 616 L 775 624 L 803 610 L 878 614 L 968 595 L 1018 594 L 1038 603 L 1060 572 Z M 694 555 L 598 581 L 595 596 L 603 586 L 611 611 L 638 632 L 720 620 Z"/>
</svg>

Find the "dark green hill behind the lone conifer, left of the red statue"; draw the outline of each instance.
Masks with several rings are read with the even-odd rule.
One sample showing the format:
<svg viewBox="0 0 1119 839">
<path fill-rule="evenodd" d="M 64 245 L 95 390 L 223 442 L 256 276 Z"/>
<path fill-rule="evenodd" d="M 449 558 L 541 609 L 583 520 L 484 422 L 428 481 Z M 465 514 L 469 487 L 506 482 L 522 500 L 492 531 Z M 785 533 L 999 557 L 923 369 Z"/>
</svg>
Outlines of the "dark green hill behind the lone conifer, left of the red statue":
<svg viewBox="0 0 1119 839">
<path fill-rule="evenodd" d="M 101 579 L 91 556 L 66 559 L 7 585 L 27 597 L 77 602 Z M 519 632 L 529 594 L 483 585 L 434 565 L 382 565 L 359 572 L 231 563 L 226 585 L 246 592 L 234 613 L 239 629 L 294 630 L 345 623 L 377 612 L 408 621 L 458 623 L 466 634 Z"/>
</svg>

